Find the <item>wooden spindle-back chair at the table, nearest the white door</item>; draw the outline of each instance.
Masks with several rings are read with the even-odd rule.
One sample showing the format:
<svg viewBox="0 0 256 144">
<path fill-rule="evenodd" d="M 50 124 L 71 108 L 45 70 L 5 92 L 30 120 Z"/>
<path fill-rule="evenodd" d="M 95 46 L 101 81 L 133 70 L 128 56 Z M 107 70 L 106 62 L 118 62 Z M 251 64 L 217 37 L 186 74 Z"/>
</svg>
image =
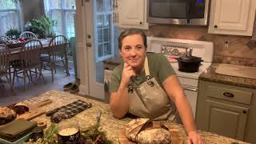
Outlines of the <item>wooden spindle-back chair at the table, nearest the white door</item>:
<svg viewBox="0 0 256 144">
<path fill-rule="evenodd" d="M 49 48 L 48 48 L 48 57 L 42 57 L 42 65 L 49 65 L 51 71 L 51 79 L 54 82 L 54 72 L 56 74 L 56 63 L 63 62 L 63 65 L 66 69 L 66 74 L 70 75 L 68 64 L 66 62 L 66 37 L 63 35 L 57 35 L 50 40 Z"/>
</svg>

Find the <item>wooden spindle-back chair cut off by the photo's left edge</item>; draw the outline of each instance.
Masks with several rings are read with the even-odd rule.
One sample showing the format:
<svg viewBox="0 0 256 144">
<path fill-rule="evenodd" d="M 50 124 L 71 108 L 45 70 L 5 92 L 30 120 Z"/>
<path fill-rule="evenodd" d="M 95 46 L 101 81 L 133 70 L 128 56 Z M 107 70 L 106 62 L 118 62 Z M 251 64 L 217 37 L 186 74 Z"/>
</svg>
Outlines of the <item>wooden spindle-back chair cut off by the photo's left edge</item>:
<svg viewBox="0 0 256 144">
<path fill-rule="evenodd" d="M 8 69 L 9 69 L 9 57 L 10 50 L 7 46 L 0 44 L 0 78 L 5 77 L 6 82 L 9 83 L 11 90 L 14 94 L 16 94 L 14 85 L 10 82 L 10 78 L 8 78 Z M 0 86 L 4 86 L 6 84 L 5 81 L 0 79 Z"/>
</svg>

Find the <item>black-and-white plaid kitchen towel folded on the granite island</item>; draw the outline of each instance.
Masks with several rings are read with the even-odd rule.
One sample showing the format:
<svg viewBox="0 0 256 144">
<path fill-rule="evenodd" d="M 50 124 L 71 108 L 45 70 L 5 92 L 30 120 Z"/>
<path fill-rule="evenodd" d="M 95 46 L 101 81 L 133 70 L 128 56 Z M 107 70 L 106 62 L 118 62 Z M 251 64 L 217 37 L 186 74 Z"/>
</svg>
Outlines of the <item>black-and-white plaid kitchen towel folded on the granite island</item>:
<svg viewBox="0 0 256 144">
<path fill-rule="evenodd" d="M 46 112 L 46 116 L 51 116 L 50 119 L 52 122 L 60 122 L 62 119 L 72 118 L 74 115 L 80 113 L 83 110 L 89 109 L 90 107 L 90 102 L 77 100 L 66 106 L 61 106 Z"/>
</svg>

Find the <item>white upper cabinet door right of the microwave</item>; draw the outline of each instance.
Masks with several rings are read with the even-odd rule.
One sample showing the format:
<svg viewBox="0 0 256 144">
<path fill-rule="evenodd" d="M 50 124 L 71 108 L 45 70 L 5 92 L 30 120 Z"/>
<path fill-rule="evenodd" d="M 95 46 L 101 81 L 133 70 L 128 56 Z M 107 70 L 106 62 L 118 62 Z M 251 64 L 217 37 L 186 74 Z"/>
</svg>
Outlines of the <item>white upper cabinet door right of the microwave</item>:
<svg viewBox="0 0 256 144">
<path fill-rule="evenodd" d="M 251 36 L 255 0 L 211 0 L 209 33 Z"/>
</svg>

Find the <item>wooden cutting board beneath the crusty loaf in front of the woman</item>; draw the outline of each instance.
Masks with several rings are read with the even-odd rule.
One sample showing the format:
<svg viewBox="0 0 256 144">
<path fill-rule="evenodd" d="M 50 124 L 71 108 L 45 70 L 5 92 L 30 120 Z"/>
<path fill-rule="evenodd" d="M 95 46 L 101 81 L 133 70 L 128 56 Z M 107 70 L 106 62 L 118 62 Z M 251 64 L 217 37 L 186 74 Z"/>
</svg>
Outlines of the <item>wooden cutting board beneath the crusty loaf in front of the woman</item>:
<svg viewBox="0 0 256 144">
<path fill-rule="evenodd" d="M 169 129 L 170 131 L 170 139 L 171 143 L 175 144 L 183 144 L 186 143 L 186 139 L 182 138 L 182 132 L 178 129 Z M 129 141 L 129 139 L 126 137 L 126 130 L 125 128 L 120 131 L 118 134 L 118 142 L 120 144 L 134 144 L 135 142 Z"/>
</svg>

